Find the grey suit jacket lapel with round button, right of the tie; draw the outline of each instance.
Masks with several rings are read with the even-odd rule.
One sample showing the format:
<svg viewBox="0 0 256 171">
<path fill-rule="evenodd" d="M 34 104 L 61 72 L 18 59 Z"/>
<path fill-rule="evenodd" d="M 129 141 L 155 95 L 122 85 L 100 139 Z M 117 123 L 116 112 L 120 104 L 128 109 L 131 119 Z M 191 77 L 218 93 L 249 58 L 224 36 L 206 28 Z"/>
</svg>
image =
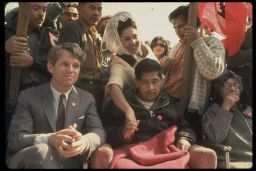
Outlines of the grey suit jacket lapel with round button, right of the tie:
<svg viewBox="0 0 256 171">
<path fill-rule="evenodd" d="M 72 88 L 67 102 L 67 109 L 66 109 L 66 121 L 65 121 L 65 128 L 68 125 L 72 124 L 72 121 L 75 119 L 76 114 L 79 114 L 79 98 L 77 92 Z"/>
</svg>

